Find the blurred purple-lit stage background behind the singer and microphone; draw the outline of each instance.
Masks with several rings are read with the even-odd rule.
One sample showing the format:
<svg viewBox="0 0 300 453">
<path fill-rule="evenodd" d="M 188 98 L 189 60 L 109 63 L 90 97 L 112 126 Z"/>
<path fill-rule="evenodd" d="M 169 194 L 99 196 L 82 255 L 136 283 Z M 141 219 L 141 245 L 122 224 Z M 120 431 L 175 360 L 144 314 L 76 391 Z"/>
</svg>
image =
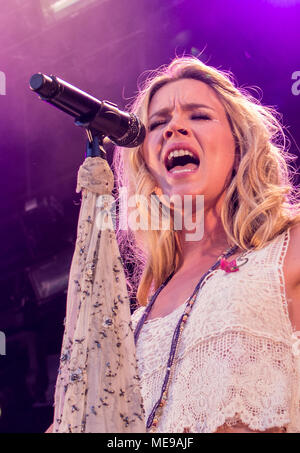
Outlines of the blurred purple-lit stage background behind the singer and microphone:
<svg viewBox="0 0 300 453">
<path fill-rule="evenodd" d="M 125 108 L 145 71 L 200 55 L 282 113 L 297 168 L 299 23 L 299 0 L 0 0 L 0 432 L 52 421 L 86 143 L 31 75 Z"/>
</svg>

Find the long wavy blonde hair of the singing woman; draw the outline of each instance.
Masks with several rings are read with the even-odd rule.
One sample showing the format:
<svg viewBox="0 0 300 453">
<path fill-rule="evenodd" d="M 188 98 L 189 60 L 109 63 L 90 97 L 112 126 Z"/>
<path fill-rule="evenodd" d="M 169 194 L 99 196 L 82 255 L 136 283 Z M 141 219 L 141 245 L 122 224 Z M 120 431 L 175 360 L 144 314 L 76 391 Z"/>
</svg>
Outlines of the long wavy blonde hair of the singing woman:
<svg viewBox="0 0 300 453">
<path fill-rule="evenodd" d="M 178 79 L 196 79 L 209 85 L 222 102 L 236 146 L 236 163 L 221 210 L 221 221 L 229 245 L 243 250 L 260 249 L 300 221 L 300 195 L 293 183 L 293 159 L 279 114 L 262 106 L 248 91 L 237 88 L 231 74 L 208 66 L 195 57 L 175 58 L 169 65 L 152 72 L 139 88 L 131 105 L 147 125 L 148 107 L 154 94 Z M 128 196 L 150 196 L 157 181 L 149 172 L 143 145 L 130 150 L 117 148 L 112 164 L 116 190 L 127 187 Z M 159 206 L 159 203 L 158 203 Z M 139 207 L 148 224 L 149 208 Z M 145 305 L 155 291 L 178 267 L 181 246 L 178 232 L 168 230 L 120 230 L 120 252 L 127 269 L 130 296 Z M 131 269 L 131 270 L 128 270 Z"/>
</svg>

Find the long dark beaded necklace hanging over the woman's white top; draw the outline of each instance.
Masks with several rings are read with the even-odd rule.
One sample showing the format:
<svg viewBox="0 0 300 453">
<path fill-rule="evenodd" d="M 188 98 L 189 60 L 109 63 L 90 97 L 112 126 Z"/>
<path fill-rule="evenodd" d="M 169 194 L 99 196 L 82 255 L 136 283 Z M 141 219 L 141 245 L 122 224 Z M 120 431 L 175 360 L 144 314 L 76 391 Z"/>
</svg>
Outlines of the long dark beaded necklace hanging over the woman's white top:
<svg viewBox="0 0 300 453">
<path fill-rule="evenodd" d="M 178 346 L 179 346 L 179 343 L 180 343 L 180 339 L 181 339 L 181 335 L 182 335 L 182 332 L 183 332 L 183 329 L 184 329 L 184 326 L 185 326 L 185 323 L 187 322 L 188 320 L 188 317 L 191 313 L 191 310 L 193 308 L 193 305 L 194 305 L 194 302 L 196 300 L 196 297 L 199 293 L 199 291 L 202 289 L 202 287 L 205 285 L 206 281 L 207 281 L 207 277 L 209 274 L 211 274 L 212 271 L 214 271 L 219 265 L 220 265 L 220 262 L 222 259 L 225 259 L 228 258 L 229 256 L 233 255 L 233 253 L 237 250 L 237 245 L 231 247 L 230 249 L 228 249 L 226 252 L 222 253 L 222 255 L 219 256 L 218 260 L 215 262 L 215 264 L 213 264 L 209 270 L 207 272 L 205 272 L 205 274 L 202 275 L 202 277 L 200 278 L 199 282 L 197 283 L 192 295 L 187 299 L 187 302 L 186 302 L 186 306 L 185 306 L 185 309 L 184 309 L 184 312 L 183 314 L 181 315 L 176 327 L 175 327 L 175 330 L 174 330 L 174 333 L 173 333 L 173 338 L 172 338 L 172 343 L 171 343 L 171 349 L 170 349 L 170 354 L 169 354 L 169 358 L 168 358 L 168 363 L 167 363 L 167 370 L 166 370 L 166 374 L 165 374 L 165 378 L 164 378 L 164 381 L 163 381 L 163 385 L 162 385 L 162 389 L 161 389 L 161 394 L 160 394 L 160 397 L 158 399 L 158 401 L 155 403 L 152 411 L 150 412 L 150 415 L 148 417 L 148 420 L 147 420 L 147 424 L 146 424 L 146 427 L 148 430 L 150 430 L 150 432 L 155 432 L 156 431 L 156 427 L 157 427 L 157 424 L 158 424 L 158 421 L 159 421 L 159 417 L 161 416 L 162 414 L 162 411 L 163 411 L 163 407 L 165 406 L 166 402 L 167 402 L 167 398 L 168 398 L 168 390 L 169 390 L 169 385 L 170 385 L 170 382 L 171 382 L 171 377 L 173 375 L 173 372 L 174 372 L 174 359 L 175 359 L 175 356 L 176 356 L 176 353 L 177 353 L 177 350 L 178 350 Z M 173 271 L 169 277 L 162 283 L 162 285 L 156 290 L 156 292 L 153 294 L 152 298 L 150 299 L 150 302 L 149 304 L 147 305 L 141 319 L 139 320 L 137 326 L 136 326 L 136 329 L 135 329 L 135 332 L 134 332 L 134 341 L 135 341 L 135 344 L 137 343 L 137 340 L 138 340 L 138 337 L 139 337 L 139 334 L 140 334 L 140 331 L 143 327 L 143 324 L 145 323 L 153 305 L 154 305 L 154 302 L 157 298 L 157 296 L 159 295 L 159 293 L 162 291 L 162 289 L 166 286 L 166 284 L 171 280 L 171 278 L 173 277 L 175 271 Z"/>
</svg>

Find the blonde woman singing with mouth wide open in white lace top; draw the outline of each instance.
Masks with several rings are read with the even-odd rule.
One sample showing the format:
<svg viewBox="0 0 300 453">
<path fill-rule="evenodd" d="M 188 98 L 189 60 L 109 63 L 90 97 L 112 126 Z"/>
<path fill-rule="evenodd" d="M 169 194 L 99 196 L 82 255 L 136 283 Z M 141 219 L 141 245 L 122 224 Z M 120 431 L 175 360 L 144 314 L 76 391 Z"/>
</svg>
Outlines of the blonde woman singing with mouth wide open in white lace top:
<svg viewBox="0 0 300 453">
<path fill-rule="evenodd" d="M 299 195 L 275 112 L 193 57 L 148 80 L 133 112 L 146 139 L 115 153 L 118 184 L 149 200 L 145 222 L 154 193 L 173 213 L 170 228 L 119 231 L 140 263 L 132 321 L 147 429 L 300 432 Z M 194 229 L 174 228 L 166 201 L 184 195 Z"/>
</svg>

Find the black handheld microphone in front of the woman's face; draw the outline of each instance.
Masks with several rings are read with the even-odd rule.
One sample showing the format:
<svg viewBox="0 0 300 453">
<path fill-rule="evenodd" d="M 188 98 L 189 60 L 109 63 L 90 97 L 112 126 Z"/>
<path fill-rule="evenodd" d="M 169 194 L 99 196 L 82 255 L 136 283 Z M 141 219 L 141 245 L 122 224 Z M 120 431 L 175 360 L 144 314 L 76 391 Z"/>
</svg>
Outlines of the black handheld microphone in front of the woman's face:
<svg viewBox="0 0 300 453">
<path fill-rule="evenodd" d="M 75 117 L 75 124 L 107 136 L 118 146 L 134 148 L 145 139 L 145 126 L 136 115 L 119 110 L 112 102 L 99 101 L 54 75 L 33 74 L 29 85 L 40 99 Z"/>
</svg>

